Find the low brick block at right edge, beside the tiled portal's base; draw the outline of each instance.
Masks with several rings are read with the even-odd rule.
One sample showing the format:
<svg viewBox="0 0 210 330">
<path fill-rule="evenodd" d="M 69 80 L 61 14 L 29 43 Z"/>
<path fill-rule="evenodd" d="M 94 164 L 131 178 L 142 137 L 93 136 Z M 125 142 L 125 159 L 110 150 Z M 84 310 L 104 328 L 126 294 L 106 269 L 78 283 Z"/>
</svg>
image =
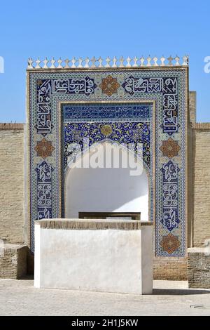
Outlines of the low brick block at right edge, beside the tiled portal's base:
<svg viewBox="0 0 210 330">
<path fill-rule="evenodd" d="M 188 285 L 190 288 L 210 288 L 210 254 L 188 253 Z"/>
</svg>

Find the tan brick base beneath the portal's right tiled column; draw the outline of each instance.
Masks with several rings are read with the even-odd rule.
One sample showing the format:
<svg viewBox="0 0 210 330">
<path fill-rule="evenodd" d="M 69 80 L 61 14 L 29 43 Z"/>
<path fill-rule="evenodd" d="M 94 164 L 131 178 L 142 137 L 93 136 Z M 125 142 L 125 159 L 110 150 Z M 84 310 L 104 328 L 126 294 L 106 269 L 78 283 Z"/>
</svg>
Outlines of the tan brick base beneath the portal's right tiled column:
<svg viewBox="0 0 210 330">
<path fill-rule="evenodd" d="M 153 279 L 186 281 L 187 258 L 153 258 Z"/>
</svg>

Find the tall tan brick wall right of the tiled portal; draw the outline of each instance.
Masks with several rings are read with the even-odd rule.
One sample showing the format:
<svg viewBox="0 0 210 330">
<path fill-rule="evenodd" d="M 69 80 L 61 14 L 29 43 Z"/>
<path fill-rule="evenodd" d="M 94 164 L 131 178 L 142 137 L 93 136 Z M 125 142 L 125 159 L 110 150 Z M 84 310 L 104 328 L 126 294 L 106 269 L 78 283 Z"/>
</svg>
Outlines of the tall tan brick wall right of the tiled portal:
<svg viewBox="0 0 210 330">
<path fill-rule="evenodd" d="M 193 246 L 203 246 L 210 238 L 210 123 L 194 124 L 193 140 Z"/>
</svg>

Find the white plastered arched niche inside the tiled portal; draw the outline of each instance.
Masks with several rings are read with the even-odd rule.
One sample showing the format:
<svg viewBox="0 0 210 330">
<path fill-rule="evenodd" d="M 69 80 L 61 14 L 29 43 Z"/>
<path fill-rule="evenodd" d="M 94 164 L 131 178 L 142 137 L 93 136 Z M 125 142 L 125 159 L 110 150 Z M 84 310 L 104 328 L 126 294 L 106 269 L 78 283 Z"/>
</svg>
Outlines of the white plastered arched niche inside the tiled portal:
<svg viewBox="0 0 210 330">
<path fill-rule="evenodd" d="M 110 165 L 107 157 L 116 149 L 119 149 L 116 144 L 107 141 L 100 143 L 96 157 L 93 145 L 90 152 L 85 152 L 69 164 L 64 184 L 65 218 L 78 218 L 79 212 L 140 212 L 141 220 L 148 220 L 148 170 L 142 165 L 141 174 L 131 175 L 134 173 L 134 154 L 130 154 L 130 160 L 133 159 L 128 161 L 131 164 L 127 168 L 123 168 L 123 161 L 120 161 L 118 168 L 83 168 L 91 157 L 96 161 L 104 159 L 104 164 Z M 127 150 L 120 149 L 118 152 L 121 159 L 127 157 Z"/>
</svg>

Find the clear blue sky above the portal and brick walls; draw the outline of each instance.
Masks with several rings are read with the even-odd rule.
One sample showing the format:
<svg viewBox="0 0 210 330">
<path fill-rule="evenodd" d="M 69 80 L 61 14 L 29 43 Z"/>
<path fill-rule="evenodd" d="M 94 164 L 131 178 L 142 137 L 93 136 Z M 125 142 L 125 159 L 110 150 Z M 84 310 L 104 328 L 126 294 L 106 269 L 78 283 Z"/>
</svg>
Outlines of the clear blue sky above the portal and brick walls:
<svg viewBox="0 0 210 330">
<path fill-rule="evenodd" d="M 210 121 L 210 1 L 1 1 L 0 122 L 25 121 L 27 58 L 190 55 L 197 121 Z"/>
</svg>

